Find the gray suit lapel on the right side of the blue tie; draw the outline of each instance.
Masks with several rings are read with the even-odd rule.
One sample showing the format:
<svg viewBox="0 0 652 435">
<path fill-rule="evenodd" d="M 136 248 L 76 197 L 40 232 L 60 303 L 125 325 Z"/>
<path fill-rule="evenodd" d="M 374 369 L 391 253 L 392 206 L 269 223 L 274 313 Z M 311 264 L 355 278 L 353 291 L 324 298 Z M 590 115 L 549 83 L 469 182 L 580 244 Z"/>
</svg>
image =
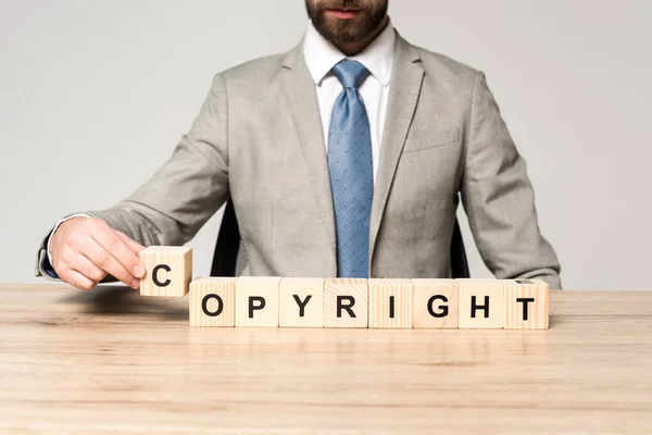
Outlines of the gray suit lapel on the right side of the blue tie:
<svg viewBox="0 0 652 435">
<path fill-rule="evenodd" d="M 392 78 L 385 116 L 380 161 L 378 163 L 378 177 L 372 206 L 369 228 L 369 258 L 372 260 L 387 198 L 416 110 L 423 76 L 424 70 L 419 64 L 418 54 L 397 33 Z"/>
</svg>

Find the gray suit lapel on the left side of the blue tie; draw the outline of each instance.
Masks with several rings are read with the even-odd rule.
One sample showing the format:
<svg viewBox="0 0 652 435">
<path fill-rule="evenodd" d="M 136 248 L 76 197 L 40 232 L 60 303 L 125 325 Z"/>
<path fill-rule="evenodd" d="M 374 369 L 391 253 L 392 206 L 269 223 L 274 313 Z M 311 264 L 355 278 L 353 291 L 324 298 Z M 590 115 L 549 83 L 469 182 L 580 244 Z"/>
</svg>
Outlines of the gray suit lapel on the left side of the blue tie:
<svg viewBox="0 0 652 435">
<path fill-rule="evenodd" d="M 303 59 L 303 41 L 286 55 L 284 70 L 283 89 L 288 99 L 301 152 L 310 171 L 324 231 L 330 241 L 330 248 L 335 258 L 337 254 L 335 212 L 330 192 L 328 160 L 324 144 L 324 129 L 319 115 L 315 83 Z"/>
</svg>

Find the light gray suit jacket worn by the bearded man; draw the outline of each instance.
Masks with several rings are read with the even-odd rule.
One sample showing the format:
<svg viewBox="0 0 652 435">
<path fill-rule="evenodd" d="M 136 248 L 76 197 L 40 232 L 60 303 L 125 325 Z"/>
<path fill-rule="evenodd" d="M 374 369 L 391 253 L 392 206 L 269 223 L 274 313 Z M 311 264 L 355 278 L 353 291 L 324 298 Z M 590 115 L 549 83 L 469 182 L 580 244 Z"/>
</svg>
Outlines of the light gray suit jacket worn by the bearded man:
<svg viewBox="0 0 652 435">
<path fill-rule="evenodd" d="M 461 197 L 497 277 L 540 277 L 561 288 L 525 161 L 484 74 L 398 35 L 396 44 L 369 276 L 449 277 Z M 146 246 L 180 245 L 230 196 L 246 274 L 336 276 L 323 127 L 302 47 L 216 74 L 170 160 L 128 199 L 89 214 Z M 45 241 L 40 273 L 43 249 Z"/>
</svg>

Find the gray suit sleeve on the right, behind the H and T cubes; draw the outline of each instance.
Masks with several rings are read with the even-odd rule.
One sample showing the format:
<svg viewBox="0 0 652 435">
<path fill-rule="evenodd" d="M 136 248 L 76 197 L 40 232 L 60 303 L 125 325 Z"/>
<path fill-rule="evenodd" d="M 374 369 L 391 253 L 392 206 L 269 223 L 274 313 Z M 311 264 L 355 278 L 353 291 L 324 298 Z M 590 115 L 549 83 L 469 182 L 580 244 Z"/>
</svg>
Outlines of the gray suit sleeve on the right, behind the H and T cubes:
<svg viewBox="0 0 652 435">
<path fill-rule="evenodd" d="M 482 261 L 498 278 L 541 278 L 561 289 L 541 235 L 535 192 L 485 75 L 477 73 L 466 135 L 462 202 Z"/>
</svg>

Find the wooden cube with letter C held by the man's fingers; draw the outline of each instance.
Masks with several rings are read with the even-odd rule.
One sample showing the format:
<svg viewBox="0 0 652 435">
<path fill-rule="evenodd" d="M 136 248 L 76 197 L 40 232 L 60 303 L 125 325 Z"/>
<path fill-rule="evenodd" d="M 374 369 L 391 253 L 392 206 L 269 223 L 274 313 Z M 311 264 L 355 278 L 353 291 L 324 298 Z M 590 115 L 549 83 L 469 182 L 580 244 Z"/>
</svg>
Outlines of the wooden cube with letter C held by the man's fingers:
<svg viewBox="0 0 652 435">
<path fill-rule="evenodd" d="M 177 246 L 151 246 L 140 252 L 146 275 L 140 295 L 183 297 L 192 279 L 192 249 Z"/>
</svg>

